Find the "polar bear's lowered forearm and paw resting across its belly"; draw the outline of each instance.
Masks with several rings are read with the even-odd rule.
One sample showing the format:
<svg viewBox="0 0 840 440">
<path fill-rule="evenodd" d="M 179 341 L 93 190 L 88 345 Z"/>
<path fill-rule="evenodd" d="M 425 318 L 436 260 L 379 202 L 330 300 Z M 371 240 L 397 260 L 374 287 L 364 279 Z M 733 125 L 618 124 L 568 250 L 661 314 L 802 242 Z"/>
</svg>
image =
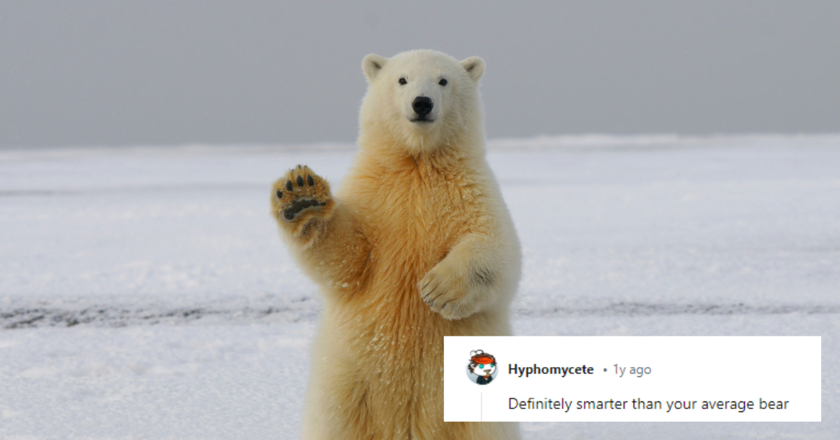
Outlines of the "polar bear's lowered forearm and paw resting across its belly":
<svg viewBox="0 0 840 440">
<path fill-rule="evenodd" d="M 470 235 L 417 283 L 420 297 L 448 320 L 470 316 L 500 300 L 507 278 L 502 246 Z"/>
</svg>

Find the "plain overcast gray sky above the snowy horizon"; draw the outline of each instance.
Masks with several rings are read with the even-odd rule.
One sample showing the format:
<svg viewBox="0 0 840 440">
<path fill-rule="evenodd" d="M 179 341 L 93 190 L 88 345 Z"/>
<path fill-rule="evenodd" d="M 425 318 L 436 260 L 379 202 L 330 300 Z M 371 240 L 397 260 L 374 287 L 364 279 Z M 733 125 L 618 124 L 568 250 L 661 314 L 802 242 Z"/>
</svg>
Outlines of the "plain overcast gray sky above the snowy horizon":
<svg viewBox="0 0 840 440">
<path fill-rule="evenodd" d="M 0 3 L 0 146 L 352 141 L 361 60 L 481 56 L 489 137 L 840 131 L 840 2 Z"/>
</svg>

